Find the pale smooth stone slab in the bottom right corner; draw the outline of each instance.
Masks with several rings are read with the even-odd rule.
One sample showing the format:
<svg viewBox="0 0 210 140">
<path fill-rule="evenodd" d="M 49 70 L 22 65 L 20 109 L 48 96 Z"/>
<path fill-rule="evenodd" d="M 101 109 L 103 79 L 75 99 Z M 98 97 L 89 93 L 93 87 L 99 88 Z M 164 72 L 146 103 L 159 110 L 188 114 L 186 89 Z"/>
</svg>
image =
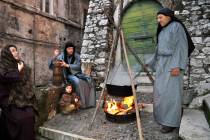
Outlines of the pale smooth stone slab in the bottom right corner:
<svg viewBox="0 0 210 140">
<path fill-rule="evenodd" d="M 184 109 L 179 137 L 183 140 L 210 140 L 210 128 L 202 110 Z"/>
</svg>

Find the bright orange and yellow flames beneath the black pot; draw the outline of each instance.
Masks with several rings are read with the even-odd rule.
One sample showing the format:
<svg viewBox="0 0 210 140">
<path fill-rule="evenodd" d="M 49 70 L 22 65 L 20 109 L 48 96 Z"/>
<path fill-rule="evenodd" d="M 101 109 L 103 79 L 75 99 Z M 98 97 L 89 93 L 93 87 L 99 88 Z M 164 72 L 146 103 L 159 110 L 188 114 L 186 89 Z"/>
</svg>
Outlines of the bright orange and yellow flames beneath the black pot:
<svg viewBox="0 0 210 140">
<path fill-rule="evenodd" d="M 125 115 L 134 109 L 134 97 L 124 97 L 121 101 L 110 99 L 106 101 L 105 111 L 112 115 Z"/>
</svg>

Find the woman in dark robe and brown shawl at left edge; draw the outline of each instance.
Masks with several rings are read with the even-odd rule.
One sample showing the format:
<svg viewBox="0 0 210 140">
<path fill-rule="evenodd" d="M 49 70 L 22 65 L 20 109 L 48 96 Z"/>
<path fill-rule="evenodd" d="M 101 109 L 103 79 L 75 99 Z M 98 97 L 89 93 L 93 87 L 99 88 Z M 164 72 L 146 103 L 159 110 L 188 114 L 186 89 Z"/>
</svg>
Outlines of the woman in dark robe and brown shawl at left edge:
<svg viewBox="0 0 210 140">
<path fill-rule="evenodd" d="M 35 140 L 31 70 L 20 61 L 17 48 L 7 45 L 0 56 L 0 139 Z"/>
</svg>

